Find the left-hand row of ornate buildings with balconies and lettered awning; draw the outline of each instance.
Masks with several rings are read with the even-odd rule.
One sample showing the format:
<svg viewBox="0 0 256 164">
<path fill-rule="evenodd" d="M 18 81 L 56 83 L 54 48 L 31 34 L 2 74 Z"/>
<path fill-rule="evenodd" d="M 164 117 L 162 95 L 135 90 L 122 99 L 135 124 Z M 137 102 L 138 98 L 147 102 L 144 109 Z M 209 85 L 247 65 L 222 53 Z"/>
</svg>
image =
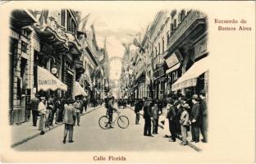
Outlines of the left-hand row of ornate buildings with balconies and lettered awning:
<svg viewBox="0 0 256 164">
<path fill-rule="evenodd" d="M 15 10 L 10 19 L 10 123 L 20 124 L 30 116 L 30 98 L 40 96 L 75 98 L 75 81 L 86 76 L 84 91 L 94 95 L 91 80 L 98 66 L 94 37 L 80 39 L 80 11 Z M 89 34 L 89 33 L 88 33 Z M 98 84 L 103 88 L 103 69 Z M 98 88 L 98 89 L 101 89 Z M 90 90 L 94 89 L 94 93 Z M 98 93 L 99 94 L 99 93 Z M 85 94 L 84 94 L 85 96 Z"/>
</svg>

